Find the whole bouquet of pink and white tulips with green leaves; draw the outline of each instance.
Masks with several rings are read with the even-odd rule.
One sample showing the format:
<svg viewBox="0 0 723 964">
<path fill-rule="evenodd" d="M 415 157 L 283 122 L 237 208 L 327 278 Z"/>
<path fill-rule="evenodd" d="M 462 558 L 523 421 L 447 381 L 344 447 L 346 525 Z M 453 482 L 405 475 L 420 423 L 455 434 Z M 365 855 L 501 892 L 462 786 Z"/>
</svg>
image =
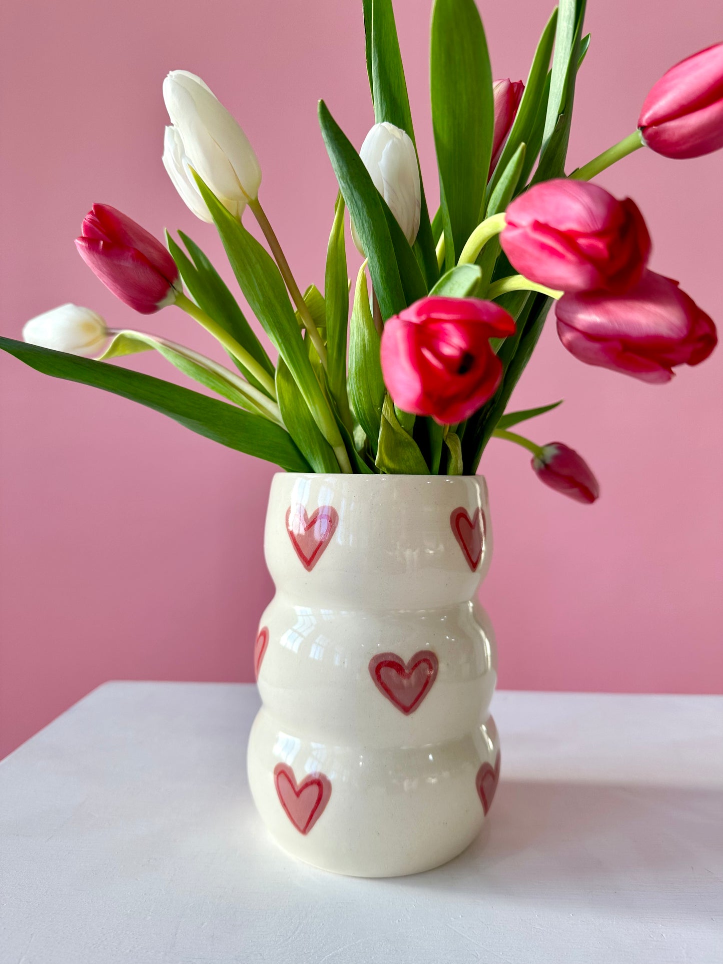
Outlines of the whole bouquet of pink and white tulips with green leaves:
<svg viewBox="0 0 723 964">
<path fill-rule="evenodd" d="M 107 204 L 94 204 L 75 242 L 86 263 L 129 308 L 188 312 L 230 364 L 146 332 L 111 331 L 72 305 L 34 318 L 24 342 L 2 338 L 0 347 L 282 469 L 471 474 L 495 436 L 527 448 L 553 488 L 594 501 L 598 483 L 576 452 L 511 431 L 554 406 L 511 413 L 507 404 L 553 302 L 560 340 L 580 362 L 662 383 L 675 366 L 710 355 L 710 317 L 648 268 L 651 239 L 635 203 L 589 181 L 640 147 L 672 158 L 723 147 L 723 44 L 672 67 L 636 129 L 566 175 L 589 41 L 585 0 L 560 0 L 524 84 L 493 82 L 474 0 L 435 0 L 430 80 L 441 204 L 431 217 L 391 0 L 362 7 L 376 123 L 361 150 L 324 101 L 318 110 L 338 182 L 323 293 L 314 285 L 302 292 L 295 280 L 238 123 L 199 77 L 175 70 L 163 85 L 166 171 L 194 214 L 218 229 L 276 362 L 190 237 L 168 234 L 164 245 Z M 244 226 L 247 207 L 266 246 Z M 347 271 L 346 212 L 363 257 L 356 281 Z M 147 350 L 223 401 L 106 363 Z"/>
</svg>

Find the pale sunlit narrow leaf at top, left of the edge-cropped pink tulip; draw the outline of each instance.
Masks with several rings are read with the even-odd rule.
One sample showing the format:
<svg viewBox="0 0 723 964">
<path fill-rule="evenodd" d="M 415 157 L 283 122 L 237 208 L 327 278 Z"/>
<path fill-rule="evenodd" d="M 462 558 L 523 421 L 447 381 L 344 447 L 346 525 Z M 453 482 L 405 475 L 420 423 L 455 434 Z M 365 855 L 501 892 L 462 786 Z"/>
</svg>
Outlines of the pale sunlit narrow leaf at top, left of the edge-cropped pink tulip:
<svg viewBox="0 0 723 964">
<path fill-rule="evenodd" d="M 585 0 L 560 0 L 540 163 L 532 183 L 564 176 L 573 120 Z"/>
</svg>

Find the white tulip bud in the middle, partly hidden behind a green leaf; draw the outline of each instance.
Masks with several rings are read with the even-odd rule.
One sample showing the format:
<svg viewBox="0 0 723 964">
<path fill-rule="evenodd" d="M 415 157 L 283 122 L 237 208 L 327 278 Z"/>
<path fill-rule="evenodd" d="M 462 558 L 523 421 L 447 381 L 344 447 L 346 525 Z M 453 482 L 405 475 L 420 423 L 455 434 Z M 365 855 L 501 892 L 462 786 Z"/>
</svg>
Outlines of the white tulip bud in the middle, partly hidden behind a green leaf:
<svg viewBox="0 0 723 964">
<path fill-rule="evenodd" d="M 421 186 L 416 150 L 410 136 L 393 123 L 375 123 L 359 152 L 374 187 L 389 205 L 410 244 L 419 230 Z M 360 254 L 362 244 L 352 222 L 352 237 Z"/>
</svg>

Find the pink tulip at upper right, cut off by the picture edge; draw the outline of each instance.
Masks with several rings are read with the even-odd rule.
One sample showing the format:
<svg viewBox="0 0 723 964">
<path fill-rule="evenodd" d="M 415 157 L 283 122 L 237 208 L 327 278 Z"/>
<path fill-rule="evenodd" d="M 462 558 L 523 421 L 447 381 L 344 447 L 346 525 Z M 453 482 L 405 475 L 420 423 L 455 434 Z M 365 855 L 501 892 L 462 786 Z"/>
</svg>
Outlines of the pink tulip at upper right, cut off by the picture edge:
<svg viewBox="0 0 723 964">
<path fill-rule="evenodd" d="M 723 147 L 723 43 L 664 73 L 637 124 L 646 145 L 663 157 L 700 157 Z"/>
</svg>

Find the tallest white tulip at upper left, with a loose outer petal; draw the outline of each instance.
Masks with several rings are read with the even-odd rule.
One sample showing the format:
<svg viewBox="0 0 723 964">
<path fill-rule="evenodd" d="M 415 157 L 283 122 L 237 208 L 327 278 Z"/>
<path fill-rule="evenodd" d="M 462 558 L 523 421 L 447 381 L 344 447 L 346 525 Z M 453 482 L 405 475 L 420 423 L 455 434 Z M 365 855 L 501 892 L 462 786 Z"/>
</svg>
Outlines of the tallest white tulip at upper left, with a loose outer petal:
<svg viewBox="0 0 723 964">
<path fill-rule="evenodd" d="M 240 218 L 261 183 L 254 148 L 228 110 L 188 70 L 172 70 L 163 82 L 163 99 L 173 127 L 166 128 L 163 163 L 174 187 L 203 221 L 211 215 L 190 168 L 231 214 Z"/>
</svg>

